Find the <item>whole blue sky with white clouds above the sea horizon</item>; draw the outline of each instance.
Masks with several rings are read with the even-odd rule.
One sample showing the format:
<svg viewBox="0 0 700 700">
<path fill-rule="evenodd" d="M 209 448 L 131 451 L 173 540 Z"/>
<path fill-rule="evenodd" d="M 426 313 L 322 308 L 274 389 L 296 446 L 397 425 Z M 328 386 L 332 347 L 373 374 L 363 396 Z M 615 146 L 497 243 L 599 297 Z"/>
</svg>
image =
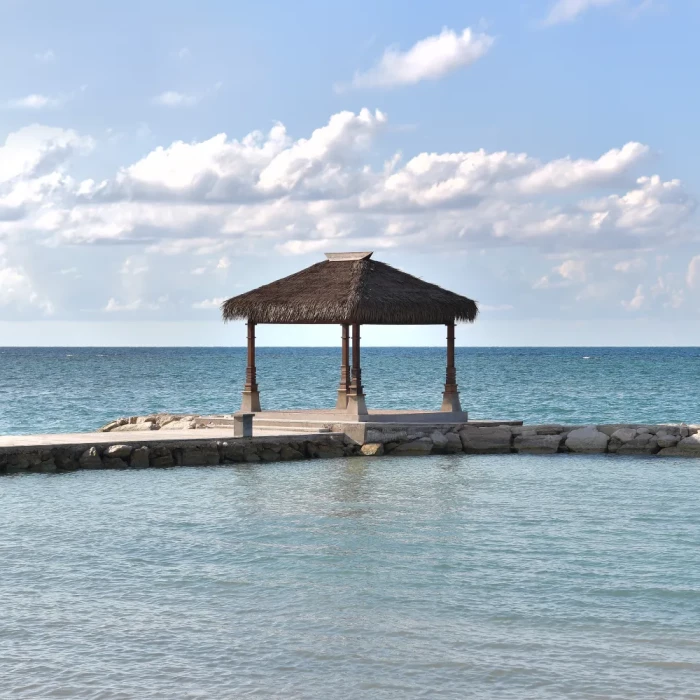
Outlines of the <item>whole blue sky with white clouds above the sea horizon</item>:
<svg viewBox="0 0 700 700">
<path fill-rule="evenodd" d="M 699 29 L 698 0 L 0 0 L 0 346 L 242 345 L 224 299 L 354 250 L 476 299 L 459 345 L 700 345 Z"/>
</svg>

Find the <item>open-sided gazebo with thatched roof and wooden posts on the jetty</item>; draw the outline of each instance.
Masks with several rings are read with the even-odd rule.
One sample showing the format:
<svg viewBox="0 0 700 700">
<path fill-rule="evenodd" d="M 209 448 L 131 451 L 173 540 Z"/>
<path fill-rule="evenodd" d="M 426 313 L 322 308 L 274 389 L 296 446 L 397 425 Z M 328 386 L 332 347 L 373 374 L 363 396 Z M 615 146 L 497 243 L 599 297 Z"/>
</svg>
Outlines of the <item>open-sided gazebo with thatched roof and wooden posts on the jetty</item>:
<svg viewBox="0 0 700 700">
<path fill-rule="evenodd" d="M 440 410 L 462 411 L 454 364 L 455 324 L 476 319 L 476 302 L 372 260 L 371 252 L 326 253 L 323 262 L 232 297 L 221 310 L 224 321 L 247 321 L 242 412 L 262 410 L 255 369 L 255 326 L 261 323 L 339 324 L 341 364 L 335 411 L 360 421 L 368 414 L 360 365 L 360 326 L 444 325 L 447 369 Z"/>
</svg>

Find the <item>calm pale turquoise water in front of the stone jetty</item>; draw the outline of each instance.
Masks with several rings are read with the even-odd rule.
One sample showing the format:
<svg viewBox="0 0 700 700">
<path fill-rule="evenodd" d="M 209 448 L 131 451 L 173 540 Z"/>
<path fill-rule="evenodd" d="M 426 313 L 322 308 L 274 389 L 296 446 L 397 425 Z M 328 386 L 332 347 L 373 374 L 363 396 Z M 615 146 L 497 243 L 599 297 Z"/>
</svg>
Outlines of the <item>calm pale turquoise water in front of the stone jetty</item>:
<svg viewBox="0 0 700 700">
<path fill-rule="evenodd" d="M 0 479 L 6 698 L 697 698 L 694 460 Z"/>
</svg>

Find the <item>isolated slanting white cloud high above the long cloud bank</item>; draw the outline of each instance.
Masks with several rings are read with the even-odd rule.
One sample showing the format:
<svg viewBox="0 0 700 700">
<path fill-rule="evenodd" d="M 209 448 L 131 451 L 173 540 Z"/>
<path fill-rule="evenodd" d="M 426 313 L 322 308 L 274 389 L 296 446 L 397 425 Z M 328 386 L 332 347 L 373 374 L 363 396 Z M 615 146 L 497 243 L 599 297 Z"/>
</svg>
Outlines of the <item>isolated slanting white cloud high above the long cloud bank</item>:
<svg viewBox="0 0 700 700">
<path fill-rule="evenodd" d="M 437 80 L 480 59 L 493 42 L 488 34 L 478 34 L 469 28 L 461 34 L 445 28 L 440 34 L 421 39 L 405 52 L 387 49 L 377 65 L 365 73 L 355 74 L 352 87 L 395 87 Z M 337 89 L 345 89 L 345 86 Z"/>
</svg>

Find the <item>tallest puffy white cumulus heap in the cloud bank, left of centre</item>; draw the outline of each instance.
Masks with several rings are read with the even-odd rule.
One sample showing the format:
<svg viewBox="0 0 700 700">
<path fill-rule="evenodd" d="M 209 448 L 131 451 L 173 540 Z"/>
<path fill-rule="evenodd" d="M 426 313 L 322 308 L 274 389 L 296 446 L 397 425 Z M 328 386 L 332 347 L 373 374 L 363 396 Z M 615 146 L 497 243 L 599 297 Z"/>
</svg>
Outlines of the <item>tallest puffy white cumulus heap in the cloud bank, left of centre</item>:
<svg viewBox="0 0 700 700">
<path fill-rule="evenodd" d="M 89 183 L 86 200 L 126 197 L 143 201 L 249 204 L 295 191 L 323 199 L 362 185 L 353 168 L 387 119 L 382 112 L 340 112 L 309 138 L 292 141 L 283 125 L 267 136 L 253 132 L 241 141 L 226 134 L 195 143 L 176 141 L 156 148 L 121 170 L 113 182 Z"/>
</svg>

